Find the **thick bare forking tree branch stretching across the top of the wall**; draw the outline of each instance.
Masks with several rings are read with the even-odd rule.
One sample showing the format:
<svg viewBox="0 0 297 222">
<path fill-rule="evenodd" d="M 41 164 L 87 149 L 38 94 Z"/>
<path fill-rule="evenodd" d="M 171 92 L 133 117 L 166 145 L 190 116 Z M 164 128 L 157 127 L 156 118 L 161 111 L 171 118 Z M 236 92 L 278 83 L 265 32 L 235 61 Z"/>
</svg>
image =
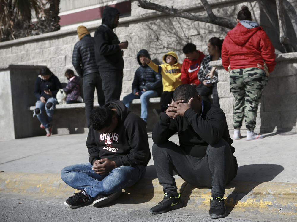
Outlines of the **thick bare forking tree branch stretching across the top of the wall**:
<svg viewBox="0 0 297 222">
<path fill-rule="evenodd" d="M 188 12 L 184 12 L 175 8 L 169 8 L 166 6 L 162 6 L 159 4 L 155 4 L 155 3 L 151 3 L 148 2 L 146 0 L 137 0 L 138 1 L 138 6 L 143 8 L 143 9 L 151 9 L 151 10 L 155 10 L 158 12 L 164 12 L 170 15 L 174 15 L 177 17 L 181 17 L 181 18 L 185 18 L 185 19 L 189 19 L 189 20 L 194 20 L 194 21 L 198 21 L 198 22 L 206 22 L 206 23 L 211 23 L 214 25 L 219 25 L 225 28 L 234 28 L 236 26 L 236 22 L 232 21 L 230 19 L 226 19 L 223 17 L 216 17 L 211 10 L 211 7 L 209 6 L 207 1 L 202 1 L 202 3 L 204 2 L 205 4 L 203 4 L 203 6 L 205 8 L 207 8 L 207 13 L 209 15 L 211 15 L 211 17 L 209 16 L 200 16 L 200 15 L 192 15 L 191 13 Z"/>
</svg>

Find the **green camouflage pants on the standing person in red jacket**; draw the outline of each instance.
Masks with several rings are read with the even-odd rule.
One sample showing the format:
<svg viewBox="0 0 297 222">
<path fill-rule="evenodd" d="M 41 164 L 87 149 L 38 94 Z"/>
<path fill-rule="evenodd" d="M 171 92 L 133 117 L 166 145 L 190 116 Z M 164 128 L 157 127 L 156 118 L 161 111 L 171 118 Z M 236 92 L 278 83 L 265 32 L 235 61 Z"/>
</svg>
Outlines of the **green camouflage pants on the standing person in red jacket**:
<svg viewBox="0 0 297 222">
<path fill-rule="evenodd" d="M 247 130 L 254 130 L 262 89 L 267 83 L 263 69 L 245 68 L 230 71 L 230 91 L 234 95 L 233 127 L 240 129 L 245 119 Z"/>
</svg>

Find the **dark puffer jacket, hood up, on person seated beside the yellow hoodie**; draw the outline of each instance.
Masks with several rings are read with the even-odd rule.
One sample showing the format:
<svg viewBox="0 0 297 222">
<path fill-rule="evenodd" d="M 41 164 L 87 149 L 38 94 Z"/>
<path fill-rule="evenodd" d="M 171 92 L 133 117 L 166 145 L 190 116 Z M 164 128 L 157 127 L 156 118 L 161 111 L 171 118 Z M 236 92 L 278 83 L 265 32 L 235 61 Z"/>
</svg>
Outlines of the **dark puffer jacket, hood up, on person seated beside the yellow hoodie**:
<svg viewBox="0 0 297 222">
<path fill-rule="evenodd" d="M 139 60 L 140 55 L 151 59 L 149 52 L 145 49 L 141 49 L 137 53 L 137 61 L 140 67 L 135 71 L 132 92 L 135 95 L 136 92 L 143 91 L 143 89 L 146 91 L 156 90 L 160 95 L 162 92 L 162 75 L 152 70 L 148 65 L 142 65 Z"/>
</svg>

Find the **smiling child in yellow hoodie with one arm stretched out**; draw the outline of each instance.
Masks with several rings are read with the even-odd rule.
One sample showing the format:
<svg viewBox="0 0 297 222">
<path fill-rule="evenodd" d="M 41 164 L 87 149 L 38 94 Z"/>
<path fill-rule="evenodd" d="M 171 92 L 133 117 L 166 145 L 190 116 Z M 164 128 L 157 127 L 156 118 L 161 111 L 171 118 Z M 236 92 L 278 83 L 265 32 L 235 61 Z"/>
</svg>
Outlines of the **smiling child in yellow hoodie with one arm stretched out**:
<svg viewBox="0 0 297 222">
<path fill-rule="evenodd" d="M 160 109 L 153 109 L 154 113 L 159 116 L 161 112 L 164 112 L 168 104 L 171 103 L 173 97 L 173 91 L 179 85 L 181 85 L 181 67 L 182 64 L 178 63 L 178 57 L 175 52 L 168 52 L 163 56 L 162 65 L 157 65 L 149 58 L 144 60 L 146 64 L 151 67 L 155 72 L 161 73 L 163 92 L 161 94 Z"/>
</svg>

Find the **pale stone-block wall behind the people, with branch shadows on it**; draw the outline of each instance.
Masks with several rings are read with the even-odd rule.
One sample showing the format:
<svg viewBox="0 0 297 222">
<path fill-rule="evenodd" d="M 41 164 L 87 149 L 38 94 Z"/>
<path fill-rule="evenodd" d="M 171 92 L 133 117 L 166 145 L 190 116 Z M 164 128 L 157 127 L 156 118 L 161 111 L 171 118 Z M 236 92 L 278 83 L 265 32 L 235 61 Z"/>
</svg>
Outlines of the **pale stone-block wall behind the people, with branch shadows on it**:
<svg viewBox="0 0 297 222">
<path fill-rule="evenodd" d="M 163 5 L 174 5 L 176 8 L 184 8 L 191 5 L 188 12 L 205 14 L 200 2 L 191 4 L 191 1 L 154 1 Z M 260 18 L 259 7 L 255 1 L 238 3 L 238 1 L 209 1 L 212 3 L 216 15 L 233 17 L 238 12 L 241 4 L 247 4 L 255 9 L 253 15 Z M 124 50 L 124 78 L 123 96 L 129 94 L 132 89 L 132 80 L 135 70 L 138 68 L 136 54 L 140 49 L 147 49 L 154 61 L 162 62 L 163 54 L 168 51 L 175 51 L 179 61 L 182 63 L 184 54 L 181 49 L 187 42 L 193 42 L 197 48 L 207 54 L 207 41 L 216 36 L 223 38 L 228 29 L 203 22 L 195 22 L 178 17 L 168 16 L 152 10 L 142 9 L 137 6 L 137 1 L 131 1 L 131 15 L 120 18 L 116 34 L 120 41 L 129 41 L 129 48 Z M 257 11 L 258 10 L 258 11 Z M 0 43 L 1 67 L 8 67 L 11 64 L 18 65 L 46 65 L 58 76 L 61 82 L 67 82 L 64 77 L 66 69 L 74 69 L 72 66 L 72 50 L 78 41 L 76 27 L 85 25 L 91 36 L 94 36 L 96 28 L 101 20 L 76 24 L 63 30 L 46 33 L 39 36 L 30 36 L 17 40 Z M 33 86 L 32 86 L 33 87 Z M 33 94 L 32 94 L 33 96 Z M 95 101 L 96 93 L 95 93 Z M 33 104 L 29 104 L 33 105 Z"/>
</svg>

